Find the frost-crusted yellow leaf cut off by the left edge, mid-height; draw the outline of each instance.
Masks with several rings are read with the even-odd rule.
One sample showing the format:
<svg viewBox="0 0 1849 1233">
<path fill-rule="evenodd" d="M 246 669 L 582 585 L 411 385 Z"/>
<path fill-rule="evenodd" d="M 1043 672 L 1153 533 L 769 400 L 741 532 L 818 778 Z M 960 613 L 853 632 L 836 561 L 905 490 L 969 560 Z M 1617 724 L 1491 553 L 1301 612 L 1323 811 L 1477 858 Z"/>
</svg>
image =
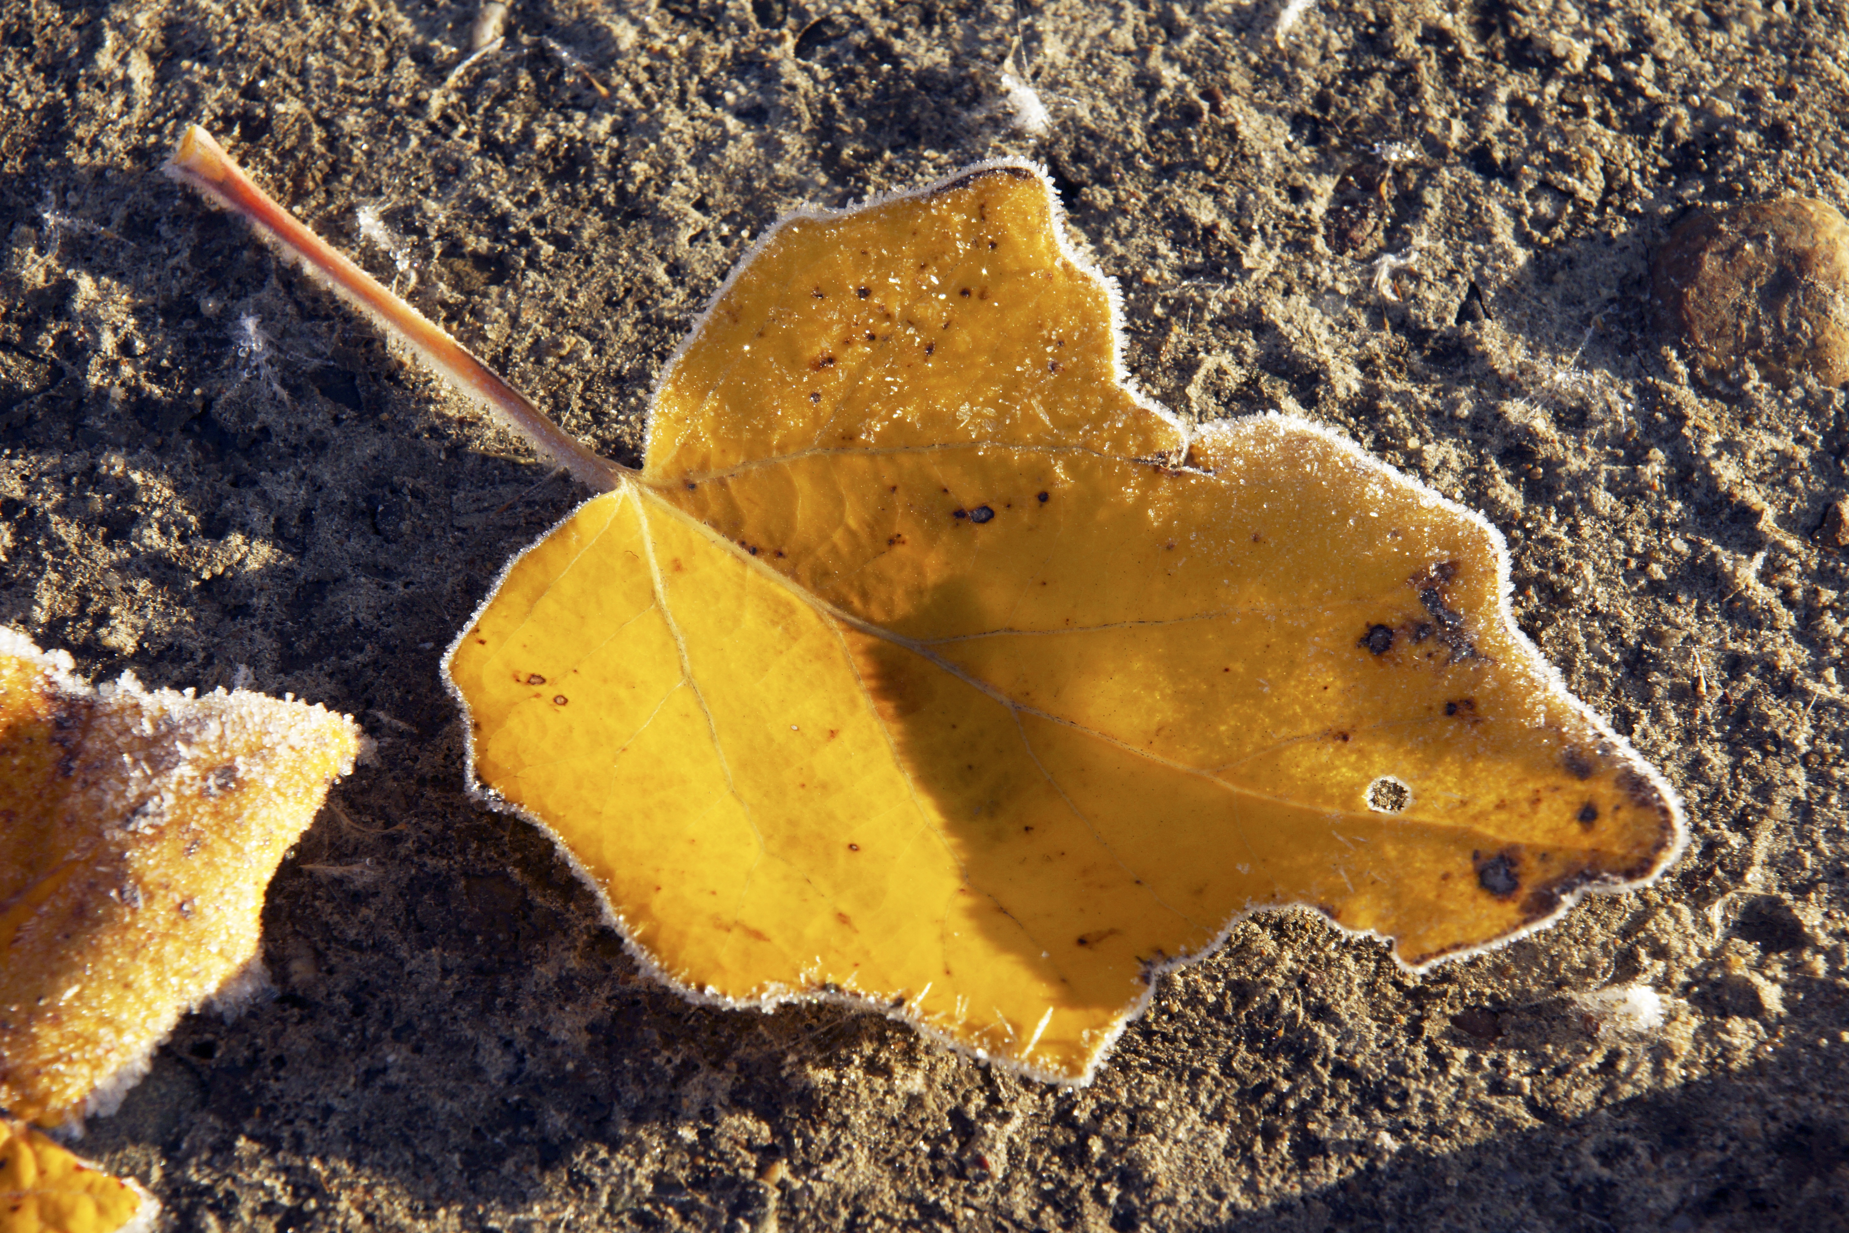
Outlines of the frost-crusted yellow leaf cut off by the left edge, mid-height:
<svg viewBox="0 0 1849 1233">
<path fill-rule="evenodd" d="M 0 629 L 0 1107 L 109 1107 L 248 980 L 264 887 L 357 749 L 320 706 L 92 690 Z"/>
</svg>

